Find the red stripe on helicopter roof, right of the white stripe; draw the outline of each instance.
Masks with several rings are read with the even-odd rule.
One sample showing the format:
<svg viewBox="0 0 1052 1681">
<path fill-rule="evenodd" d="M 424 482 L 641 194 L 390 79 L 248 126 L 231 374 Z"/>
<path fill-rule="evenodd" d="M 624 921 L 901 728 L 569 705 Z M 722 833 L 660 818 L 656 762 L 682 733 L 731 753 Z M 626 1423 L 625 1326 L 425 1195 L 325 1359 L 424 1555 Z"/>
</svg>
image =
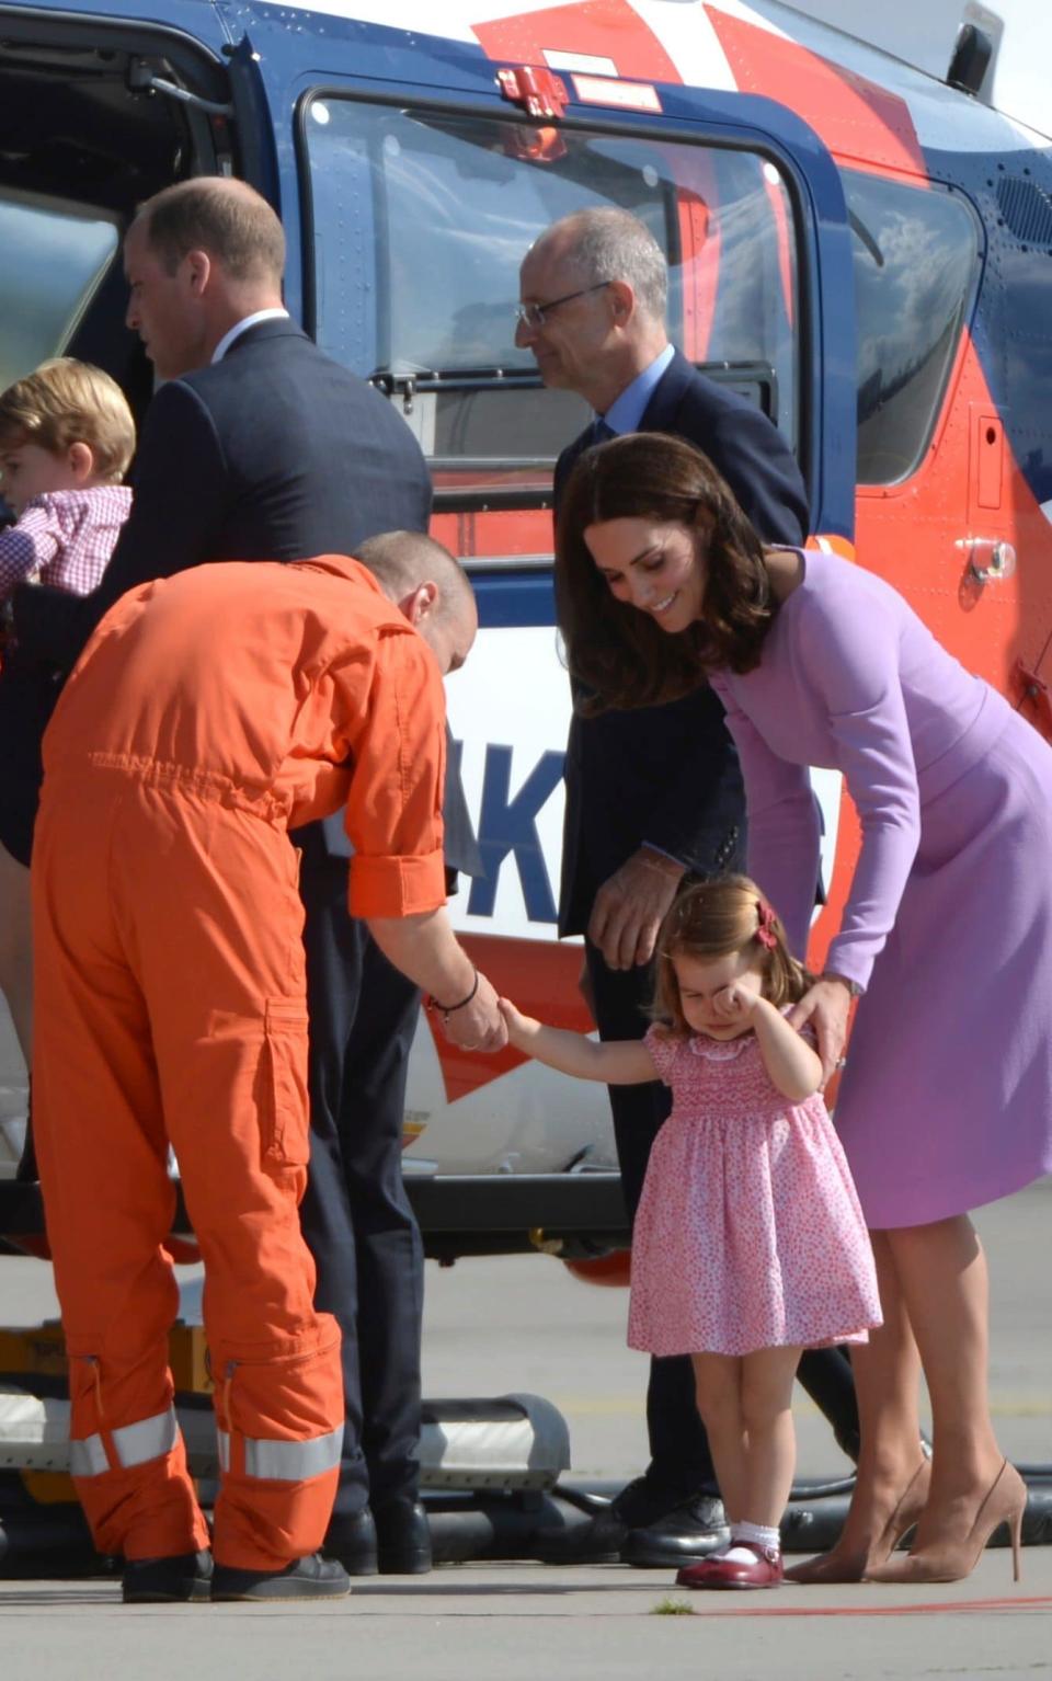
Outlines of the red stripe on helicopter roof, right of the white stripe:
<svg viewBox="0 0 1052 1681">
<path fill-rule="evenodd" d="M 845 161 L 857 160 L 874 173 L 928 175 L 909 108 L 897 94 L 795 40 L 728 17 L 718 5 L 706 5 L 706 12 L 743 94 L 792 106 Z"/>
</svg>

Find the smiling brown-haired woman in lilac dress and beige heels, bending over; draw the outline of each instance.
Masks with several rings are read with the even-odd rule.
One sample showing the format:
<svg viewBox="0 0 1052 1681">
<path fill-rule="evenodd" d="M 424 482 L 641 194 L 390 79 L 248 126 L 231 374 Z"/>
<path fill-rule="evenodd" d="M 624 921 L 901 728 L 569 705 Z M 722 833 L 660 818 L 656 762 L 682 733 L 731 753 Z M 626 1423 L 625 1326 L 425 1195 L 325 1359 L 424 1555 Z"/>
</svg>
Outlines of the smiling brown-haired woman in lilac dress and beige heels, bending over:
<svg viewBox="0 0 1052 1681">
<path fill-rule="evenodd" d="M 827 970 L 792 1019 L 812 1020 L 828 1078 L 860 995 L 837 1130 L 884 1328 L 852 1352 L 862 1452 L 844 1535 L 790 1573 L 963 1577 L 1025 1504 L 990 1420 L 968 1210 L 1052 1170 L 1052 751 L 881 578 L 765 551 L 679 439 L 637 434 L 580 459 L 556 600 L 586 706 L 652 706 L 711 677 L 741 755 L 750 874 L 798 955 L 818 877 L 807 767 L 845 777 L 862 849 Z M 911 1553 L 891 1558 L 914 1525 Z"/>
</svg>

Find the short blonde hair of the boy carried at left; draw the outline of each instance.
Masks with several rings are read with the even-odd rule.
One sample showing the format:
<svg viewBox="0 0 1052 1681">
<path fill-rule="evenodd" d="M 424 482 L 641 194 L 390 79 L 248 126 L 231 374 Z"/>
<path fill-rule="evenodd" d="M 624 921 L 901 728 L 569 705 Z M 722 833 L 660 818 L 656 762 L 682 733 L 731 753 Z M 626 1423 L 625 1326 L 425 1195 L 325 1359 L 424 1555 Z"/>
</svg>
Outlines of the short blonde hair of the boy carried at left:
<svg viewBox="0 0 1052 1681">
<path fill-rule="evenodd" d="M 134 454 L 134 420 L 108 373 L 74 356 L 54 356 L 0 393 L 0 447 L 22 444 L 52 456 L 87 444 L 96 476 L 119 484 Z"/>
</svg>

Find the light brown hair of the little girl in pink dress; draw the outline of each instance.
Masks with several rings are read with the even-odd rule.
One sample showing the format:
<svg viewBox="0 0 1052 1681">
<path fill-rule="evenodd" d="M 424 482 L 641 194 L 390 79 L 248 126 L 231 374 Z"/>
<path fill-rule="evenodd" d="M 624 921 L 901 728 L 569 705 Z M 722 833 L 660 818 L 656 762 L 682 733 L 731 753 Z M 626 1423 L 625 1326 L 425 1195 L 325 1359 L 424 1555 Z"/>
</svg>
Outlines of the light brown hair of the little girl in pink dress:
<svg viewBox="0 0 1052 1681">
<path fill-rule="evenodd" d="M 813 983 L 813 975 L 788 948 L 781 918 L 748 876 L 718 876 L 684 888 L 657 935 L 655 1020 L 672 1034 L 692 1032 L 682 1014 L 674 958 L 713 963 L 746 951 L 756 958 L 763 997 L 775 1007 L 797 1004 Z"/>
</svg>

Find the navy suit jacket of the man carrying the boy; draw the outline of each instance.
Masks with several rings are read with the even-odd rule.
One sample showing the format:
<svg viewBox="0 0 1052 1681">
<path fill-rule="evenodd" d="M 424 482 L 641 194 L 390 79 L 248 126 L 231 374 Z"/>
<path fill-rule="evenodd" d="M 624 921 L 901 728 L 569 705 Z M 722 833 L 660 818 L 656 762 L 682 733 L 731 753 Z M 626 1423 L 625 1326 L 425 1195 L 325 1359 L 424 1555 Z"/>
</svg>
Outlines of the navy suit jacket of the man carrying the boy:
<svg viewBox="0 0 1052 1681">
<path fill-rule="evenodd" d="M 427 531 L 430 501 L 427 462 L 392 405 L 294 321 L 260 321 L 222 361 L 160 387 L 131 514 L 101 587 L 86 597 L 20 588 L 18 657 L 66 674 L 103 614 L 139 583 L 210 560 L 353 555 L 381 531 Z M 455 767 L 450 782 L 447 861 L 472 869 Z M 35 807 L 35 787 L 22 795 Z M 333 851 L 346 851 L 339 819 L 326 834 Z"/>
</svg>

